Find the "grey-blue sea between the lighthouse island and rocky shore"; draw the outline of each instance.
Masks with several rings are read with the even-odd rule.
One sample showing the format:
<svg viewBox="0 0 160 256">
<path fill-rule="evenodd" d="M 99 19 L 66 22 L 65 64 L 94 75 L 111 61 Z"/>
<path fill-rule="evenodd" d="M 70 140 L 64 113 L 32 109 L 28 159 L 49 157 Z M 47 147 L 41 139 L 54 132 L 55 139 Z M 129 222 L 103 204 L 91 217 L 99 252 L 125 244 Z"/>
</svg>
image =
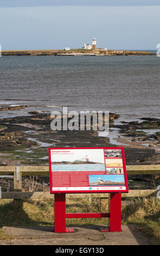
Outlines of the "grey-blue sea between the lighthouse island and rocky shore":
<svg viewBox="0 0 160 256">
<path fill-rule="evenodd" d="M 157 56 L 2 56 L 0 118 L 30 111 L 109 111 L 120 120 L 159 118 Z"/>
</svg>

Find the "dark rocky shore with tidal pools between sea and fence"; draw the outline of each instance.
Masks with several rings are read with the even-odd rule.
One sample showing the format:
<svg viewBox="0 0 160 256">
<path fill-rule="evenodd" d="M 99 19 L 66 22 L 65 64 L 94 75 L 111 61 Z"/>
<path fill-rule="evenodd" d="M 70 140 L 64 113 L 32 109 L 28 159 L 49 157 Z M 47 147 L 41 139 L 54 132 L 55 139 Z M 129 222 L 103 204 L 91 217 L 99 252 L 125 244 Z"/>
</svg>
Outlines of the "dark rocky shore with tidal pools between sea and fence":
<svg viewBox="0 0 160 256">
<path fill-rule="evenodd" d="M 26 107 L 26 106 L 25 106 Z M 48 166 L 49 147 L 117 147 L 125 148 L 126 164 L 160 163 L 160 119 L 143 118 L 139 121 L 118 123 L 120 115 L 110 113 L 110 133 L 108 137 L 98 136 L 97 131 L 52 131 L 50 113 L 30 112 L 27 116 L 0 119 L 0 166 Z M 70 119 L 68 119 L 69 121 Z M 111 136 L 117 132 L 112 143 Z M 111 137 L 110 137 L 111 136 Z M 125 142 L 125 143 L 124 143 Z M 131 177 L 130 177 L 131 176 Z M 129 175 L 130 189 L 141 186 L 153 188 L 160 184 L 159 175 Z M 1 178 L 0 178 L 1 179 Z M 48 189 L 41 183 L 40 190 Z M 24 181 L 24 180 L 23 180 Z M 12 190 L 12 182 L 3 178 Z M 25 182 L 24 182 L 25 183 Z M 139 185 L 140 184 L 140 185 Z M 158 185 L 159 185 L 158 184 Z M 24 185 L 24 188 L 26 185 Z"/>
</svg>

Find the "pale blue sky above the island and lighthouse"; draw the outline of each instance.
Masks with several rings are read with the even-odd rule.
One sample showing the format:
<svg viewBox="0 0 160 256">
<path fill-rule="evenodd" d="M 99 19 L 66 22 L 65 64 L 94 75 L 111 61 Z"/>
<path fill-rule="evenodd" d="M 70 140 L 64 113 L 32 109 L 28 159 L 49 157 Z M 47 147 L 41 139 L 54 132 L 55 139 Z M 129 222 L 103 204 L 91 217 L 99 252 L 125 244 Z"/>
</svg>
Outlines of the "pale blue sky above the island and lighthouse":
<svg viewBox="0 0 160 256">
<path fill-rule="evenodd" d="M 66 5 L 67 3 L 67 5 Z M 98 48 L 156 50 L 159 0 L 1 0 L 2 50 Z"/>
</svg>

